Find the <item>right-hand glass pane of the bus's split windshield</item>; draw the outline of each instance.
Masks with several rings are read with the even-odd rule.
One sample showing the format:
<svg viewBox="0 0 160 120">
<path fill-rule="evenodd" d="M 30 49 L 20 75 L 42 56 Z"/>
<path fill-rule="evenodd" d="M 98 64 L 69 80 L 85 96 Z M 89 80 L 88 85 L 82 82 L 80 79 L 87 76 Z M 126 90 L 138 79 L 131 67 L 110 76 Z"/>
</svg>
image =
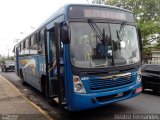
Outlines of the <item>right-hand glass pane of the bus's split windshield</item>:
<svg viewBox="0 0 160 120">
<path fill-rule="evenodd" d="M 140 60 L 135 26 L 110 24 L 115 65 L 136 63 Z"/>
</svg>

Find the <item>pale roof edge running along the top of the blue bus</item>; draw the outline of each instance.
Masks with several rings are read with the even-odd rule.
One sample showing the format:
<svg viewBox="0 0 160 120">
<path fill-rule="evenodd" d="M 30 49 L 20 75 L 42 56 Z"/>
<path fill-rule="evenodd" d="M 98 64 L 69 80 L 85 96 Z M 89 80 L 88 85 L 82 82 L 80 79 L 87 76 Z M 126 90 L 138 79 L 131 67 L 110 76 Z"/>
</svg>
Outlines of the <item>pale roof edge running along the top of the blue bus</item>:
<svg viewBox="0 0 160 120">
<path fill-rule="evenodd" d="M 101 7 L 101 8 L 109 8 L 109 9 L 120 10 L 120 11 L 132 13 L 129 10 L 126 10 L 126 9 L 123 9 L 123 8 L 119 8 L 119 7 L 116 7 L 116 6 L 110 6 L 110 5 L 100 5 L 100 4 L 65 4 L 64 6 L 60 7 L 60 9 L 58 9 L 57 11 L 55 11 L 47 20 L 45 20 L 34 32 L 32 32 L 31 34 L 29 34 L 25 38 L 23 38 L 22 41 L 24 41 L 25 39 L 27 39 L 32 34 L 36 33 L 38 30 L 40 30 L 41 28 L 43 28 L 45 25 L 47 25 L 48 23 L 50 23 L 52 20 L 54 20 L 58 16 L 60 16 L 60 15 L 67 15 L 67 10 L 68 10 L 68 8 L 70 6 Z M 22 41 L 20 41 L 19 43 L 17 43 L 15 45 L 15 47 L 18 46 Z"/>
</svg>

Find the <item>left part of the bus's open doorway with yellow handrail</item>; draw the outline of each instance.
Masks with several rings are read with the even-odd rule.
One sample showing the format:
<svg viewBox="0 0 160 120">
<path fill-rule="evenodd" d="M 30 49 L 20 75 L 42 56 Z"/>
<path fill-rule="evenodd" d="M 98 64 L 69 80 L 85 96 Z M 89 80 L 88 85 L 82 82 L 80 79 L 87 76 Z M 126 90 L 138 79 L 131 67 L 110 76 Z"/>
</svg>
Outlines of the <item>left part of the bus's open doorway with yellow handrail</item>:
<svg viewBox="0 0 160 120">
<path fill-rule="evenodd" d="M 57 97 L 57 77 L 55 75 L 56 69 L 56 45 L 53 37 L 53 29 L 46 30 L 45 40 L 45 57 L 46 57 L 46 75 L 48 82 L 48 96 Z"/>
</svg>

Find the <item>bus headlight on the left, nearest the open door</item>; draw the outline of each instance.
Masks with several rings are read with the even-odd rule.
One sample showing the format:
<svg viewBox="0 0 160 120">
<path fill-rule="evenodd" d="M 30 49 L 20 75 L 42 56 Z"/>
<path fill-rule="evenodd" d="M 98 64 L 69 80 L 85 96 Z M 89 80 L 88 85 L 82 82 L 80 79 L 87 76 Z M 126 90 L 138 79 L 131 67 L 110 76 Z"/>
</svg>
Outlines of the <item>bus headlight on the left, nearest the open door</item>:
<svg viewBox="0 0 160 120">
<path fill-rule="evenodd" d="M 73 76 L 74 92 L 86 93 L 86 90 L 78 76 Z"/>
</svg>

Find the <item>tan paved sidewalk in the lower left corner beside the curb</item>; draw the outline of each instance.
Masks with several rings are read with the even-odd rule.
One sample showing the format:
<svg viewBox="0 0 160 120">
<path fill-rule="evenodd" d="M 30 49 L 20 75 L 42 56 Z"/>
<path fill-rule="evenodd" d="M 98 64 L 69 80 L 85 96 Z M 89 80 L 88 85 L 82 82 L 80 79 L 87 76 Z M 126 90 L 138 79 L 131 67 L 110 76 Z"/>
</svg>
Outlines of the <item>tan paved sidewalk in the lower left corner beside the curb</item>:
<svg viewBox="0 0 160 120">
<path fill-rule="evenodd" d="M 7 117 L 26 120 L 47 119 L 2 76 L 0 76 L 0 113 L 2 120 Z"/>
</svg>

